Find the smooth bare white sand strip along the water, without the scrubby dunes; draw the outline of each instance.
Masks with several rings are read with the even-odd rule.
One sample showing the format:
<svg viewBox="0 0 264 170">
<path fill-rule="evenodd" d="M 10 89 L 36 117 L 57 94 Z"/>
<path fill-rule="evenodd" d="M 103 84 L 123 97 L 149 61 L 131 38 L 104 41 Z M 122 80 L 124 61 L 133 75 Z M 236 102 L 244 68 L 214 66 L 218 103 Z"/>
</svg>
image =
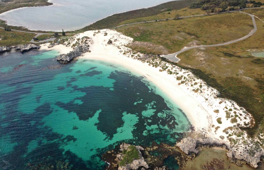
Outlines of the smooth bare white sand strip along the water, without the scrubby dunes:
<svg viewBox="0 0 264 170">
<path fill-rule="evenodd" d="M 83 33 L 79 37 L 86 36 Z M 92 36 L 92 35 L 89 35 Z M 99 36 L 99 35 L 96 35 Z M 93 45 L 90 46 L 91 53 L 85 53 L 78 58 L 95 59 L 105 62 L 110 62 L 129 69 L 131 72 L 138 73 L 141 76 L 146 77 L 155 86 L 159 87 L 174 103 L 176 103 L 182 111 L 186 114 L 187 118 L 194 127 L 208 126 L 207 120 L 208 113 L 202 108 L 193 96 L 186 93 L 175 81 L 175 78 L 167 74 L 167 72 L 160 72 L 160 68 L 151 67 L 148 63 L 143 63 L 139 60 L 135 60 L 124 56 L 116 48 L 111 46 L 105 46 L 101 43 L 101 38 L 98 37 L 98 41 L 93 39 Z M 60 54 L 66 54 L 72 51 L 72 48 L 66 47 L 62 44 L 56 45 L 53 48 L 48 48 L 47 44 L 42 44 L 41 49 L 45 50 L 57 50 Z M 190 107 L 191 106 L 191 107 Z"/>
</svg>

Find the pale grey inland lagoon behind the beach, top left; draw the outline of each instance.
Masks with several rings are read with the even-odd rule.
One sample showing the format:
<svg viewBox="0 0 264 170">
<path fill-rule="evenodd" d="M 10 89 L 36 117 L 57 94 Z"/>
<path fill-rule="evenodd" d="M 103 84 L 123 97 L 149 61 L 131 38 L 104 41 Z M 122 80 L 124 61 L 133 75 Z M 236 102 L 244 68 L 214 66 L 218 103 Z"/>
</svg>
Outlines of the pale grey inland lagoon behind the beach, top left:
<svg viewBox="0 0 264 170">
<path fill-rule="evenodd" d="M 0 14 L 9 25 L 31 30 L 70 31 L 112 14 L 155 6 L 168 0 L 50 0 L 51 6 L 18 8 Z"/>
</svg>

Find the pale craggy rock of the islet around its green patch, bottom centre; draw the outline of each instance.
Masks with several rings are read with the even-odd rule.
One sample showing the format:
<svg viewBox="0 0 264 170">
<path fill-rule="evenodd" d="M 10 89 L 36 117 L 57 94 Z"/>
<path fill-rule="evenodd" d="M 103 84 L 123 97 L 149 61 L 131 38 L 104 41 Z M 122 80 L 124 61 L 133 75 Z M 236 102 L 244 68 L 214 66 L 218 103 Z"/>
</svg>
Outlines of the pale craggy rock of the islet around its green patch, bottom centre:
<svg viewBox="0 0 264 170">
<path fill-rule="evenodd" d="M 144 151 L 144 148 L 140 147 L 140 146 L 133 146 L 130 144 L 121 144 L 120 145 L 120 151 L 122 153 L 118 154 L 116 156 L 117 162 L 120 164 L 120 162 L 124 159 L 124 157 L 126 157 L 126 152 L 131 151 L 132 149 L 135 149 L 138 152 L 138 158 L 133 160 L 133 162 L 131 163 L 127 163 L 123 166 L 119 166 L 118 170 L 144 170 L 144 169 L 148 169 L 149 166 L 147 164 L 147 162 L 145 162 L 142 153 L 140 151 Z"/>
</svg>

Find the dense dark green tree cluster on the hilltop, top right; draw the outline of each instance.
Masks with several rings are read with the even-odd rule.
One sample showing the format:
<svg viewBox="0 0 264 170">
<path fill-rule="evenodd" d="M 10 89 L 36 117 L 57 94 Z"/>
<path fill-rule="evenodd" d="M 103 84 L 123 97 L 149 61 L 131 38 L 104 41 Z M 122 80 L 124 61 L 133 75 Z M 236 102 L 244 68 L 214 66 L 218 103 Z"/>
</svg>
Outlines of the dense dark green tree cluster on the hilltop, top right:
<svg viewBox="0 0 264 170">
<path fill-rule="evenodd" d="M 247 0 L 199 0 L 190 5 L 190 8 L 201 8 L 206 13 L 233 11 L 249 7 L 247 4 L 253 4 L 252 7 L 260 7 L 261 2 Z"/>
</svg>

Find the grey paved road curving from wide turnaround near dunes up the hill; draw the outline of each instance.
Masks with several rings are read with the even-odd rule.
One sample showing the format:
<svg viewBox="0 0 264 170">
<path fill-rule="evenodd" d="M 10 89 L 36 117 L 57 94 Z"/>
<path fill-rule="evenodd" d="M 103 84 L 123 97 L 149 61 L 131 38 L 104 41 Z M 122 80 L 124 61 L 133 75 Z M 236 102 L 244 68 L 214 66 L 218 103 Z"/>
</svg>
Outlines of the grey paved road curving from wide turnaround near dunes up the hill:
<svg viewBox="0 0 264 170">
<path fill-rule="evenodd" d="M 241 11 L 239 11 L 239 12 L 241 12 Z M 168 60 L 173 61 L 173 62 L 178 62 L 180 59 L 177 58 L 177 55 L 180 54 L 180 53 L 182 53 L 182 52 L 185 52 L 185 51 L 187 51 L 187 50 L 189 50 L 189 49 L 200 48 L 200 47 L 217 47 L 217 46 L 224 46 L 224 45 L 232 44 L 232 43 L 235 43 L 235 42 L 238 42 L 238 41 L 241 41 L 241 40 L 243 40 L 243 39 L 246 39 L 246 38 L 250 37 L 252 34 L 254 34 L 254 33 L 257 31 L 257 25 L 256 25 L 256 21 L 255 21 L 254 15 L 249 14 L 249 13 L 246 13 L 246 12 L 241 12 L 241 13 L 248 14 L 249 16 L 251 16 L 251 18 L 252 18 L 252 22 L 253 22 L 253 26 L 254 26 L 254 29 L 251 30 L 251 31 L 249 32 L 249 34 L 247 34 L 246 36 L 244 36 L 244 37 L 242 37 L 242 38 L 239 38 L 239 39 L 236 39 L 236 40 L 233 40 L 233 41 L 226 42 L 226 43 L 221 43 L 221 44 L 214 44 L 214 45 L 201 45 L 201 46 L 188 47 L 188 48 L 182 49 L 181 51 L 178 51 L 178 52 L 176 52 L 176 53 L 168 54 L 168 55 L 164 55 L 164 56 L 162 56 L 162 57 L 167 58 Z"/>
</svg>

